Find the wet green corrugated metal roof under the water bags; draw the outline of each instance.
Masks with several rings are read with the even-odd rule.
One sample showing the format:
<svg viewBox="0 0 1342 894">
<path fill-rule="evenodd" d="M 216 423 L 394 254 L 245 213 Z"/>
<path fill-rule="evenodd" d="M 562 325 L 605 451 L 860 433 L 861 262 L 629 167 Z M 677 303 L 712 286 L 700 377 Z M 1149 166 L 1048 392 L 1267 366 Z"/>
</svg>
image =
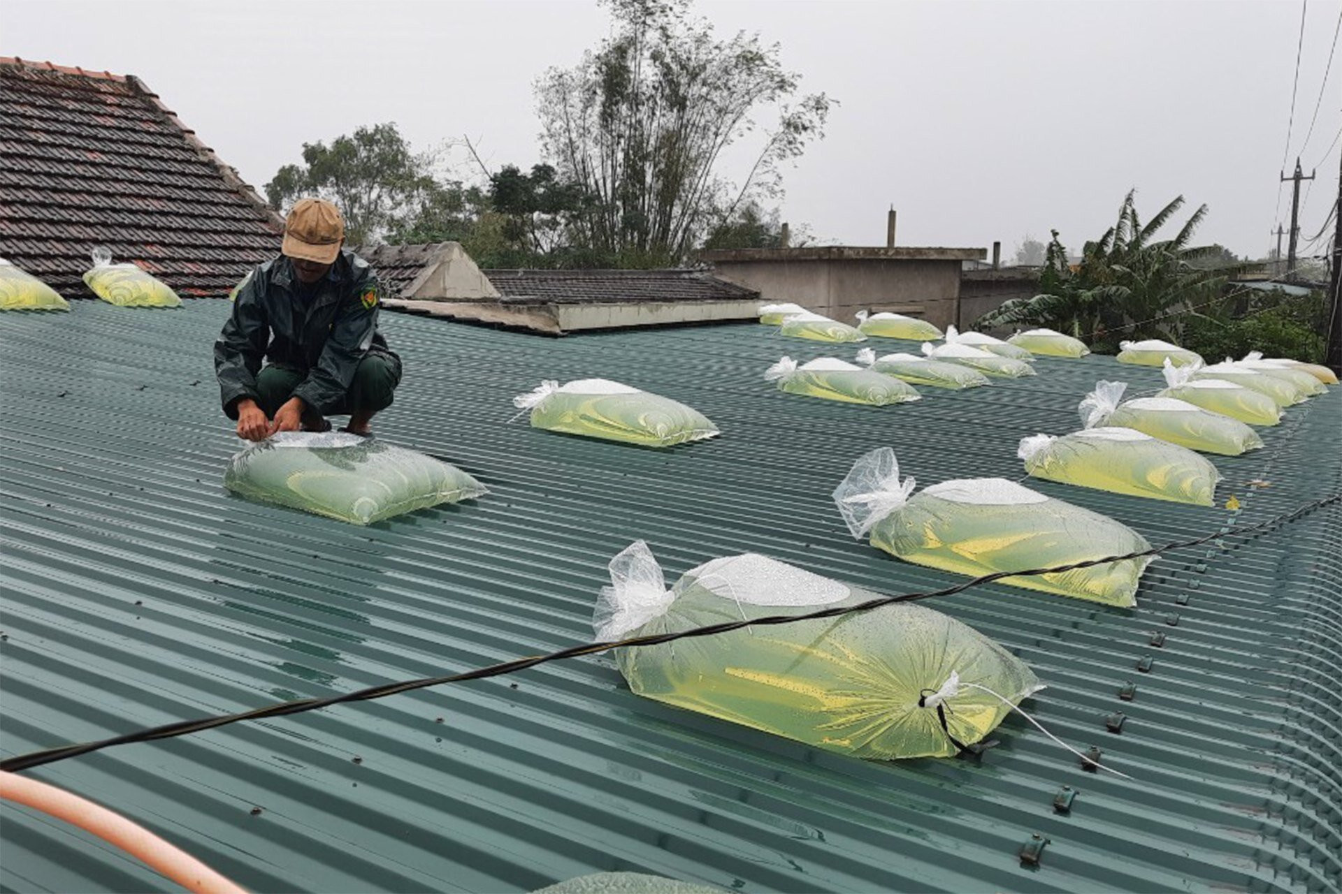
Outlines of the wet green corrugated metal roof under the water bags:
<svg viewBox="0 0 1342 894">
<path fill-rule="evenodd" d="M 380 434 L 493 496 L 356 528 L 223 491 L 236 441 L 209 346 L 227 310 L 0 315 L 3 753 L 585 641 L 605 563 L 636 537 L 668 576 L 760 551 L 887 592 L 943 586 L 848 536 L 829 493 L 855 457 L 891 445 L 923 485 L 1017 477 L 1017 438 L 1072 430 L 1096 378 L 1161 385 L 1111 358 L 1040 359 L 1036 378 L 870 409 L 764 382 L 785 351 L 833 353 L 765 327 L 544 339 L 385 316 L 407 374 Z M 723 434 L 656 452 L 507 422 L 514 394 L 584 377 L 686 401 Z M 1217 457 L 1236 515 L 1035 487 L 1161 543 L 1337 492 L 1339 432 L 1334 389 L 1266 449 Z M 977 761 L 844 759 L 637 698 L 608 657 L 31 772 L 264 891 L 518 891 L 605 870 L 743 891 L 1335 890 L 1339 547 L 1333 505 L 1157 562 L 1134 610 L 1001 586 L 935 603 L 1021 655 L 1049 686 L 1035 716 L 1134 781 L 1080 771 L 1017 717 Z M 0 889 L 170 887 L 59 823 L 0 818 Z M 1051 843 L 1031 870 L 1017 851 L 1036 832 Z"/>
</svg>

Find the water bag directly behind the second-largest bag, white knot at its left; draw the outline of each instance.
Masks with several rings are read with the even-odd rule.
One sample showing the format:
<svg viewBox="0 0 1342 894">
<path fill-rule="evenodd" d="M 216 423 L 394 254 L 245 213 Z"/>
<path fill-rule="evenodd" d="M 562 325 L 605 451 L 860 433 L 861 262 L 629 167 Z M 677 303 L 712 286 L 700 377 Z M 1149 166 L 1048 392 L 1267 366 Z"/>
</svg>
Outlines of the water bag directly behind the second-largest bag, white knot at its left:
<svg viewBox="0 0 1342 894">
<path fill-rule="evenodd" d="M 1221 480 L 1206 457 L 1134 429 L 1036 434 L 1021 440 L 1016 456 L 1031 477 L 1194 505 L 1213 505 Z"/>
</svg>

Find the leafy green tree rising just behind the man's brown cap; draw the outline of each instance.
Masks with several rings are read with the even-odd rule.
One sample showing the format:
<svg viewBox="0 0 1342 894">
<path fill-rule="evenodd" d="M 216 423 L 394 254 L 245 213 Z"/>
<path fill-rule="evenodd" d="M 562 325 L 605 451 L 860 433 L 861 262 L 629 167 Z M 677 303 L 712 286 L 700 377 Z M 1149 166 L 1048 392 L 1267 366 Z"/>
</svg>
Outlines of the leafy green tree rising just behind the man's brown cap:
<svg viewBox="0 0 1342 894">
<path fill-rule="evenodd" d="M 350 244 L 376 241 L 416 209 L 442 204 L 431 159 L 411 151 L 395 123 L 358 127 L 350 135 L 303 143 L 303 164 L 285 165 L 266 184 L 280 213 L 305 196 L 327 198 L 345 216 Z"/>
</svg>

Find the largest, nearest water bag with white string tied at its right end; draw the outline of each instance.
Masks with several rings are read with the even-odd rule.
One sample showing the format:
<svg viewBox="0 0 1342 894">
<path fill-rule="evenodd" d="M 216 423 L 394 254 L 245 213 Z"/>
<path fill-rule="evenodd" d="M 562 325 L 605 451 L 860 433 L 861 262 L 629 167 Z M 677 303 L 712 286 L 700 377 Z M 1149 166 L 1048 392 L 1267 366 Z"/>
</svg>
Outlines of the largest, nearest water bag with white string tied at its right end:
<svg viewBox="0 0 1342 894">
<path fill-rule="evenodd" d="M 593 617 L 603 641 L 840 609 L 880 595 L 757 554 L 714 559 L 667 591 L 641 540 L 611 562 L 611 584 Z M 992 639 L 915 604 L 757 625 L 619 649 L 615 657 L 640 696 L 875 760 L 954 756 L 956 741 L 981 741 L 1011 705 L 1043 689 Z M 938 713 L 934 702 L 942 700 Z"/>
</svg>

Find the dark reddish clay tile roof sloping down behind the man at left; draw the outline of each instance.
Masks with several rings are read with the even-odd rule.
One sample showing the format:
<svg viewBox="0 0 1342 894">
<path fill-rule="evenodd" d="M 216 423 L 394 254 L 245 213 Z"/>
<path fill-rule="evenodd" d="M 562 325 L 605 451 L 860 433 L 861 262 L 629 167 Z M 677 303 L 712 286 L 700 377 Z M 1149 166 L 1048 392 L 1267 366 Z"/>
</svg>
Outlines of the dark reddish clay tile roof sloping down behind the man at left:
<svg viewBox="0 0 1342 894">
<path fill-rule="evenodd" d="M 219 298 L 280 220 L 133 75 L 0 56 L 0 257 L 67 298 L 106 245 L 183 298 Z"/>
</svg>

